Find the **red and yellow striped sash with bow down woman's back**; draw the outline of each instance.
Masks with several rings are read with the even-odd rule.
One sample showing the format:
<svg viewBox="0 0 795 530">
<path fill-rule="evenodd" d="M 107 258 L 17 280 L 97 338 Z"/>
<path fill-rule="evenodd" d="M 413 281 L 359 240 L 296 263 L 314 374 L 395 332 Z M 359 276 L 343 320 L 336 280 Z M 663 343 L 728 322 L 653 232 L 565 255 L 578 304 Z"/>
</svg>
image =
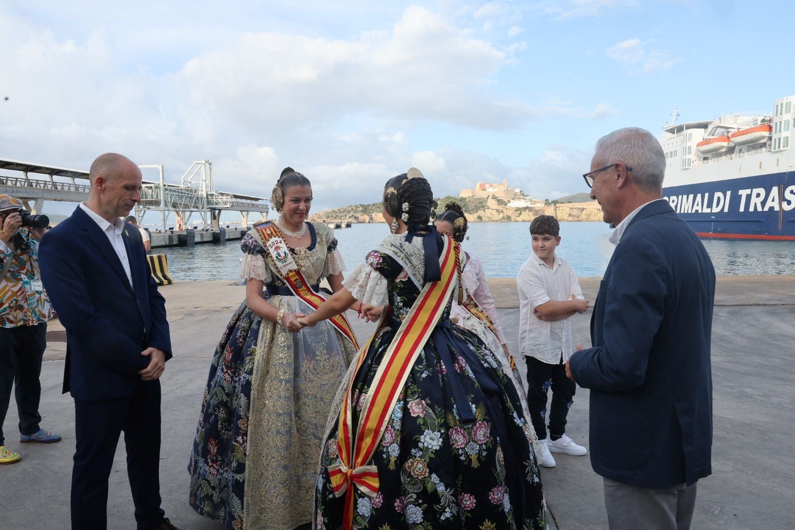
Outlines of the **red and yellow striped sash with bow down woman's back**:
<svg viewBox="0 0 795 530">
<path fill-rule="evenodd" d="M 381 441 L 397 398 L 417 356 L 428 341 L 433 328 L 436 327 L 456 287 L 455 280 L 458 273 L 456 259 L 459 246 L 451 238 L 444 236 L 443 239 L 444 249 L 439 258 L 441 279 L 425 284 L 417 301 L 397 330 L 381 365 L 378 366 L 370 385 L 370 393 L 366 394 L 355 432 L 351 415 L 354 405 L 351 402 L 351 393 L 355 377 L 348 385 L 347 396 L 339 413 L 337 448 L 341 463 L 328 467 L 335 495 L 337 497 L 345 495 L 343 530 L 350 530 L 353 524 L 355 495 L 351 485 L 355 485 L 370 497 L 378 495 L 378 469 L 376 466 L 366 464 L 370 462 Z M 386 311 L 385 315 L 382 315 L 382 323 L 384 319 Z M 354 373 L 359 372 L 369 344 L 370 342 L 359 352 Z"/>
</svg>

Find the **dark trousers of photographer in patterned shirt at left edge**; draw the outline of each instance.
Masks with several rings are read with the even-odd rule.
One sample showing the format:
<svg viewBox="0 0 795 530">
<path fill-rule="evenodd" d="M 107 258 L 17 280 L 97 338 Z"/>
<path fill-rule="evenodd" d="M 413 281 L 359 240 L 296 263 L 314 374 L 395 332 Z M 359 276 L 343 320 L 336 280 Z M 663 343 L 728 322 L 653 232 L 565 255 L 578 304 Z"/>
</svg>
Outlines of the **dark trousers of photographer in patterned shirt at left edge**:
<svg viewBox="0 0 795 530">
<path fill-rule="evenodd" d="M 19 431 L 32 435 L 39 430 L 41 358 L 47 345 L 47 323 L 36 326 L 0 327 L 0 445 L 5 445 L 2 424 L 11 399 L 17 398 Z"/>
</svg>

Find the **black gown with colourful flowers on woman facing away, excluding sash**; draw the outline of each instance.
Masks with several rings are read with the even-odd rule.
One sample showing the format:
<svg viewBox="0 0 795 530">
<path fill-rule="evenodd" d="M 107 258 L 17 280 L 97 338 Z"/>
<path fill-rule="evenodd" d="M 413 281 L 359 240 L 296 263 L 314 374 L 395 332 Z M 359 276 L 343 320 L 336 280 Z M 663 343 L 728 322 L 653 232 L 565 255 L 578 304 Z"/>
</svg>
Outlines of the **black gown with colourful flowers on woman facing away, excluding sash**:
<svg viewBox="0 0 795 530">
<path fill-rule="evenodd" d="M 390 319 L 366 350 L 353 378 L 357 424 L 370 381 L 402 319 L 421 292 L 422 239 L 386 238 L 345 284 L 358 300 L 388 302 Z M 419 281 L 417 280 L 419 279 Z M 494 353 L 471 331 L 452 326 L 450 302 L 417 357 L 386 431 L 368 465 L 378 469 L 374 498 L 356 487 L 353 528 L 546 527 L 546 509 L 529 422 Z M 340 389 L 329 419 L 316 484 L 315 526 L 342 527 L 344 496 L 335 497 L 328 466 L 339 463 Z"/>
</svg>

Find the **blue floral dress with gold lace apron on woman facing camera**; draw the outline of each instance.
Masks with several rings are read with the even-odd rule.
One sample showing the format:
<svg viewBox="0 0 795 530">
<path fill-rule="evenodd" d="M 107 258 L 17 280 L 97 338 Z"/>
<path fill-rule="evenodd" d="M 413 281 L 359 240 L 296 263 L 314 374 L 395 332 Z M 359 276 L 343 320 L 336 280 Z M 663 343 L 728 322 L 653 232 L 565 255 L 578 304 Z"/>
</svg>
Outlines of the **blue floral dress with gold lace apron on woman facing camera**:
<svg viewBox="0 0 795 530">
<path fill-rule="evenodd" d="M 302 272 L 315 282 L 321 271 L 334 269 L 339 252 L 331 229 L 311 226 Z M 242 239 L 243 266 L 260 275 L 249 277 L 278 284 L 258 238 L 251 231 Z M 263 297 L 285 311 L 311 311 L 295 296 Z M 293 335 L 263 323 L 243 302 L 215 350 L 204 392 L 188 464 L 192 508 L 227 529 L 309 523 L 328 410 L 353 354 L 328 323 Z M 328 458 L 337 458 L 336 443 L 325 448 Z M 359 508 L 370 514 L 369 501 Z M 322 514 L 316 523 L 324 528 Z"/>
</svg>

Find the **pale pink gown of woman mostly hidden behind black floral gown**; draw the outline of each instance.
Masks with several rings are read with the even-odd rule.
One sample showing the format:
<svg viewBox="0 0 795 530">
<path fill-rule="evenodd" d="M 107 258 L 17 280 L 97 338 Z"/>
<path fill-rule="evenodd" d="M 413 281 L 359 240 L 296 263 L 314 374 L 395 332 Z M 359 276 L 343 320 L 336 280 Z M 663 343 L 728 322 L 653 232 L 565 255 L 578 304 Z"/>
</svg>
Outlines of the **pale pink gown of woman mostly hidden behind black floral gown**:
<svg viewBox="0 0 795 530">
<path fill-rule="evenodd" d="M 473 253 L 461 252 L 461 261 L 463 267 L 463 287 L 467 290 L 469 295 L 475 300 L 479 308 L 494 324 L 494 329 L 497 335 L 480 321 L 475 315 L 467 311 L 462 305 L 457 304 L 457 300 L 453 300 L 452 308 L 450 310 L 450 317 L 458 319 L 458 325 L 467 328 L 483 341 L 484 344 L 491 350 L 494 355 L 502 362 L 502 371 L 508 376 L 514 384 L 514 388 L 519 395 L 519 401 L 522 403 L 522 412 L 525 420 L 528 421 L 531 434 L 533 436 L 533 450 L 536 456 L 541 455 L 541 445 L 538 442 L 536 431 L 533 428 L 532 420 L 530 420 L 529 408 L 527 408 L 527 393 L 525 387 L 522 385 L 522 374 L 519 369 L 511 366 L 510 359 L 506 356 L 505 351 L 502 350 L 502 344 L 506 343 L 505 335 L 502 334 L 502 328 L 497 320 L 497 311 L 494 308 L 494 298 L 491 296 L 491 291 L 486 283 L 486 274 L 483 272 L 483 262 L 480 258 Z"/>
</svg>

